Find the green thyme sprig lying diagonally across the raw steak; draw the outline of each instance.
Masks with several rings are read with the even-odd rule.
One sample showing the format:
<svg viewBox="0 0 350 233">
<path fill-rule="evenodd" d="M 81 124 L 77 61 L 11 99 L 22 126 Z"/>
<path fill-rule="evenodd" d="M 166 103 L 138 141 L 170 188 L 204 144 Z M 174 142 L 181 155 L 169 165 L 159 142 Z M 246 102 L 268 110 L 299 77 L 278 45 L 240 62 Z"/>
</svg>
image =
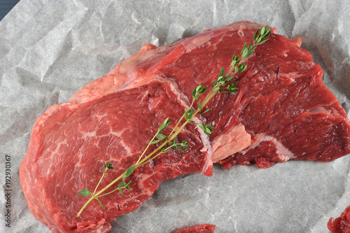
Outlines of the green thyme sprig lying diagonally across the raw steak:
<svg viewBox="0 0 350 233">
<path fill-rule="evenodd" d="M 232 61 L 230 63 L 230 67 L 228 68 L 227 71 L 225 71 L 224 67 L 221 69 L 221 71 L 218 73 L 218 78 L 216 78 L 216 80 L 214 80 L 214 82 L 211 83 L 211 89 L 210 89 L 209 93 L 204 97 L 203 100 L 199 99 L 199 97 L 202 94 L 204 94 L 205 92 L 207 92 L 208 87 L 203 87 L 203 83 L 200 83 L 200 85 L 195 87 L 195 89 L 192 92 L 192 98 L 193 98 L 192 103 L 190 104 L 190 106 L 188 108 L 186 108 L 186 110 L 184 111 L 181 118 L 176 122 L 176 125 L 172 129 L 172 132 L 170 132 L 170 134 L 168 134 L 168 135 L 162 134 L 162 132 L 167 127 L 169 127 L 169 125 L 171 123 L 169 121 L 169 118 L 167 118 L 162 123 L 162 125 L 160 125 L 158 127 L 158 131 L 153 136 L 153 139 L 151 139 L 151 141 L 148 142 L 148 145 L 146 146 L 143 153 L 140 155 L 139 160 L 137 160 L 137 162 L 135 164 L 132 164 L 129 168 L 127 168 L 123 172 L 123 174 L 120 174 L 120 176 L 118 176 L 114 181 L 109 183 L 109 185 L 106 185 L 104 188 L 102 188 L 102 190 L 99 190 L 99 192 L 97 192 L 97 188 L 99 187 L 100 183 L 102 182 L 104 176 L 107 174 L 107 172 L 109 170 L 114 169 L 113 167 L 111 167 L 112 162 L 109 162 L 108 164 L 104 163 L 105 170 L 101 171 L 102 177 L 100 178 L 99 183 L 97 183 L 96 188 L 94 188 L 94 192 L 90 192 L 90 190 L 87 188 L 80 190 L 78 192 L 78 195 L 81 195 L 83 197 L 90 197 L 90 196 L 91 197 L 89 200 L 87 200 L 87 202 L 84 204 L 84 206 L 80 209 L 80 211 L 77 214 L 77 217 L 80 216 L 80 213 L 82 213 L 83 210 L 86 208 L 86 206 L 88 204 L 90 204 L 90 202 L 92 202 L 92 200 L 94 200 L 94 199 L 96 199 L 97 202 L 99 202 L 99 204 L 104 209 L 104 206 L 100 202 L 99 197 L 104 197 L 104 196 L 109 195 L 113 192 L 116 192 L 117 190 L 120 192 L 120 195 L 123 196 L 123 189 L 132 190 L 132 188 L 130 187 L 130 183 L 132 181 L 129 181 L 127 183 L 125 180 L 123 180 L 123 181 L 120 181 L 120 180 L 125 179 L 128 176 L 130 176 L 134 172 L 134 170 L 137 169 L 138 167 L 141 167 L 144 164 L 151 162 L 152 160 L 154 160 L 156 157 L 158 157 L 162 153 L 168 153 L 169 150 L 171 150 L 171 149 L 180 150 L 181 152 L 184 152 L 184 150 L 189 150 L 188 143 L 187 143 L 188 139 L 179 142 L 178 137 L 177 137 L 177 135 L 181 132 L 181 130 L 188 123 L 197 125 L 198 127 L 200 127 L 203 130 L 204 134 L 207 134 L 207 136 L 210 136 L 211 132 L 213 132 L 215 128 L 211 125 L 204 125 L 202 122 L 194 120 L 195 116 L 198 113 L 204 114 L 204 113 L 207 113 L 208 111 L 211 110 L 210 108 L 207 108 L 204 110 L 204 107 L 208 104 L 210 99 L 213 98 L 217 93 L 222 93 L 222 92 L 235 93 L 235 92 L 237 92 L 237 81 L 234 81 L 231 83 L 230 83 L 230 81 L 236 77 L 237 73 L 241 73 L 247 69 L 245 61 L 242 61 L 242 60 L 244 58 L 250 57 L 258 45 L 262 45 L 263 43 L 265 43 L 269 39 L 268 37 L 270 34 L 271 34 L 271 28 L 269 28 L 268 26 L 264 26 L 261 29 L 258 29 L 257 31 L 255 31 L 255 34 L 253 36 L 253 41 L 251 43 L 249 43 L 248 45 L 246 43 L 244 43 L 244 46 L 243 46 L 239 55 L 236 55 L 236 52 L 233 54 Z M 195 101 L 197 99 L 198 99 L 198 105 L 197 105 L 197 109 L 195 109 L 193 106 L 194 106 Z M 181 123 L 182 123 L 182 125 L 181 125 Z M 146 155 L 148 148 L 151 145 L 154 145 L 157 143 L 160 143 L 160 146 L 158 146 L 158 148 L 153 150 L 153 152 Z M 146 157 L 145 157 L 145 155 L 146 155 Z M 118 181 L 120 181 L 120 182 L 118 183 L 117 188 L 111 190 L 110 192 L 104 193 L 107 189 L 111 188 L 111 186 L 114 185 L 115 183 L 117 183 Z"/>
</svg>

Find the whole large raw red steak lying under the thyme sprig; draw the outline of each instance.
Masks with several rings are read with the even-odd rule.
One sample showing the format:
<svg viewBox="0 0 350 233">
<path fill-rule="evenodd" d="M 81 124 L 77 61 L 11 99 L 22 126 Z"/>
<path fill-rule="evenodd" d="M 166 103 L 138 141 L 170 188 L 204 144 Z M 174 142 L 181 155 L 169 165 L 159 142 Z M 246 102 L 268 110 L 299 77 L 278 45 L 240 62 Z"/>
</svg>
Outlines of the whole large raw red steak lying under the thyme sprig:
<svg viewBox="0 0 350 233">
<path fill-rule="evenodd" d="M 300 48 L 300 38 L 290 40 L 272 29 L 269 41 L 246 59 L 248 69 L 235 78 L 239 92 L 217 94 L 209 101 L 211 111 L 196 119 L 215 127 L 211 136 L 186 126 L 179 140 L 189 139 L 190 150 L 171 150 L 139 167 L 127 178 L 132 190 L 102 197 L 105 211 L 91 202 L 76 217 L 87 201 L 77 192 L 94 190 L 102 163 L 116 168 L 104 178 L 104 187 L 138 160 L 167 117 L 172 130 L 193 89 L 211 85 L 260 27 L 236 22 L 172 45 L 144 45 L 69 102 L 51 106 L 36 120 L 20 166 L 31 213 L 52 232 L 108 232 L 111 221 L 137 209 L 162 181 L 193 172 L 211 176 L 213 162 L 226 169 L 267 168 L 350 153 L 349 119 L 323 84 L 321 67 Z"/>
</svg>

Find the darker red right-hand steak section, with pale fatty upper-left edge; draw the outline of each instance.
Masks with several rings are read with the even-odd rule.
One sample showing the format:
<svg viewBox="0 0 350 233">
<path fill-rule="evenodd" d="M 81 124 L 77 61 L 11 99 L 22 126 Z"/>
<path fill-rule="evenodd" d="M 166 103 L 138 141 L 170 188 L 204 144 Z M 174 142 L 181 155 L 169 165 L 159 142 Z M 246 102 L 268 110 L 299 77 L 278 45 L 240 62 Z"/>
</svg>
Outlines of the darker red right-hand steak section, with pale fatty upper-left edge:
<svg viewBox="0 0 350 233">
<path fill-rule="evenodd" d="M 236 22 L 172 45 L 144 45 L 70 101 L 81 103 L 144 85 L 155 76 L 176 82 L 191 99 L 193 89 L 202 82 L 209 86 L 261 26 Z M 326 162 L 350 153 L 346 112 L 323 84 L 321 67 L 300 44 L 301 38 L 271 34 L 246 59 L 249 69 L 236 78 L 239 92 L 218 94 L 209 102 L 213 110 L 203 117 L 216 127 L 210 137 L 213 162 L 225 164 L 225 169 L 255 163 L 267 168 L 287 160 Z"/>
</svg>

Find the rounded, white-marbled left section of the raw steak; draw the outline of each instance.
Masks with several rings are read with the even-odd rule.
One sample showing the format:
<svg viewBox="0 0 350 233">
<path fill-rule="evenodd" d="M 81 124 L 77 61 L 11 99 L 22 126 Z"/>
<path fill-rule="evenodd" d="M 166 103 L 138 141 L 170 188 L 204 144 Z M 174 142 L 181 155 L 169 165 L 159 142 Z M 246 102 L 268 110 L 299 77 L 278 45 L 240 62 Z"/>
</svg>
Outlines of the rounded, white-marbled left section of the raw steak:
<svg viewBox="0 0 350 233">
<path fill-rule="evenodd" d="M 170 150 L 139 167 L 126 180 L 132 181 L 132 190 L 123 190 L 123 197 L 119 192 L 101 197 L 105 211 L 96 201 L 76 217 L 88 199 L 77 193 L 94 190 L 103 162 L 112 162 L 115 169 L 108 171 L 101 188 L 137 162 L 167 116 L 181 118 L 188 106 L 179 96 L 172 83 L 155 79 L 85 104 L 51 106 L 36 120 L 20 167 L 31 213 L 52 232 L 109 232 L 110 222 L 139 208 L 162 181 L 193 172 L 210 176 L 205 134 L 188 125 L 179 139 L 189 139 L 190 150 Z M 112 186 L 117 187 L 118 183 Z"/>
</svg>

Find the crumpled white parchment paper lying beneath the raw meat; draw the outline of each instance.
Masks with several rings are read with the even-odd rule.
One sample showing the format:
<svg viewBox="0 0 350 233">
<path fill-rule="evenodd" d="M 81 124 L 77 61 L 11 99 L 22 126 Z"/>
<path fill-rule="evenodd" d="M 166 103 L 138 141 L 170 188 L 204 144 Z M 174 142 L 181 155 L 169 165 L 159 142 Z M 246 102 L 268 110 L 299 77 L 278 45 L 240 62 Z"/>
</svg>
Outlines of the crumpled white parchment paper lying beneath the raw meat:
<svg viewBox="0 0 350 233">
<path fill-rule="evenodd" d="M 31 215 L 18 169 L 34 120 L 104 76 L 144 43 L 167 45 L 239 20 L 269 24 L 325 70 L 324 82 L 350 108 L 349 1 L 22 0 L 0 22 L 0 181 L 11 158 L 11 227 L 0 191 L 0 232 L 50 232 Z M 214 166 L 214 176 L 162 183 L 111 232 L 174 232 L 211 223 L 216 232 L 328 232 L 350 205 L 350 156 L 285 162 L 269 169 Z"/>
</svg>

